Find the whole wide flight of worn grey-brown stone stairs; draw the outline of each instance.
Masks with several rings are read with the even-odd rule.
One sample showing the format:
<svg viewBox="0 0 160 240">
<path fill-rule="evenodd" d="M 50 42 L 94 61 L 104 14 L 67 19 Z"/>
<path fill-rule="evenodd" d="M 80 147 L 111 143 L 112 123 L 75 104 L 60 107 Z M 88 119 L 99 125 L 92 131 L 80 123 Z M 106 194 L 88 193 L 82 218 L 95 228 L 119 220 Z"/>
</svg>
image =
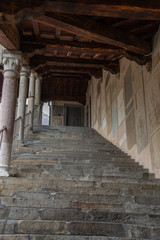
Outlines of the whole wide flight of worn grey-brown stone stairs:
<svg viewBox="0 0 160 240">
<path fill-rule="evenodd" d="M 160 239 L 160 181 L 94 130 L 37 127 L 0 178 L 0 240 Z"/>
</svg>

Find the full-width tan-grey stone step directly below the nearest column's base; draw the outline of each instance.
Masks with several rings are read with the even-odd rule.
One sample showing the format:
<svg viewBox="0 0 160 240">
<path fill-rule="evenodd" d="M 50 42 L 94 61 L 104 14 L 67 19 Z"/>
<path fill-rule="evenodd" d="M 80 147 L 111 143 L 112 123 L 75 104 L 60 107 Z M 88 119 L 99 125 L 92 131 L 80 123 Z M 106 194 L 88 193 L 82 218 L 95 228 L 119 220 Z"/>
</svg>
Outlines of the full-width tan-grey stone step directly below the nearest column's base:
<svg viewBox="0 0 160 240">
<path fill-rule="evenodd" d="M 60 180 L 60 179 L 25 179 L 8 178 L 1 179 L 1 190 L 57 190 L 62 192 L 72 192 L 80 194 L 121 194 L 123 196 L 160 196 L 160 184 L 148 183 L 127 183 L 127 182 L 95 182 L 80 180 Z M 113 194 L 114 193 L 114 194 Z"/>
</svg>

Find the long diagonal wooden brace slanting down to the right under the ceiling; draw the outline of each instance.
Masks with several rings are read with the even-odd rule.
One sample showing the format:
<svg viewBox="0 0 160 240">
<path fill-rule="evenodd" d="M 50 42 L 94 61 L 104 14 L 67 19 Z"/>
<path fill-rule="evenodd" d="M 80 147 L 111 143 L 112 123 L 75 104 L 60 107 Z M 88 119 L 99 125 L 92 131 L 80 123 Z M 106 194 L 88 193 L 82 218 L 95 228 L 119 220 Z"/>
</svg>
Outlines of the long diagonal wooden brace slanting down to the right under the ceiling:
<svg viewBox="0 0 160 240">
<path fill-rule="evenodd" d="M 149 54 L 151 52 L 149 44 L 136 38 L 134 35 L 127 34 L 113 27 L 109 28 L 106 25 L 83 16 L 77 18 L 73 15 L 54 14 L 52 17 L 36 17 L 35 20 L 46 26 L 53 28 L 58 27 L 59 29 L 92 41 L 121 47 L 137 54 Z"/>
</svg>

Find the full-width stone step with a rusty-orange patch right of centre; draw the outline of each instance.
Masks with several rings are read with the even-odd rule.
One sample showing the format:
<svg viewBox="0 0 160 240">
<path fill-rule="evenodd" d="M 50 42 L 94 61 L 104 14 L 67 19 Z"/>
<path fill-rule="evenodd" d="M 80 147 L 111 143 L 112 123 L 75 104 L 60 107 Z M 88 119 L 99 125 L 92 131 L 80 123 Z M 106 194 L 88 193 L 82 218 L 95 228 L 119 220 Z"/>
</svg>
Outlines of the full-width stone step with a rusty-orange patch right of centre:
<svg viewBox="0 0 160 240">
<path fill-rule="evenodd" d="M 18 197 L 1 197 L 2 208 L 52 208 L 52 209 L 81 209 L 82 211 L 109 211 L 117 213 L 139 213 L 160 215 L 159 205 L 150 205 L 152 202 L 146 200 L 148 204 L 133 203 L 131 200 L 124 203 L 110 202 L 86 202 L 56 199 L 35 199 L 35 198 L 18 198 Z M 142 201 L 143 202 L 143 201 Z M 156 202 L 157 203 L 157 202 Z"/>
</svg>

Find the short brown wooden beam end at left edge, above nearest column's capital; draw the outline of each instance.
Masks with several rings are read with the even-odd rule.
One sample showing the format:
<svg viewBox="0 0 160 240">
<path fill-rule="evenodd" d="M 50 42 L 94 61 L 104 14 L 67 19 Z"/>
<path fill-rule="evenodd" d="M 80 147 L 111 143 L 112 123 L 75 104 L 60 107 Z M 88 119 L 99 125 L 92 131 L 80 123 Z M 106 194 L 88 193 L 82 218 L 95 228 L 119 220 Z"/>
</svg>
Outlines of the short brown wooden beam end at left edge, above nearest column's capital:
<svg viewBox="0 0 160 240">
<path fill-rule="evenodd" d="M 19 50 L 20 37 L 14 24 L 0 24 L 0 44 L 8 50 Z"/>
</svg>

